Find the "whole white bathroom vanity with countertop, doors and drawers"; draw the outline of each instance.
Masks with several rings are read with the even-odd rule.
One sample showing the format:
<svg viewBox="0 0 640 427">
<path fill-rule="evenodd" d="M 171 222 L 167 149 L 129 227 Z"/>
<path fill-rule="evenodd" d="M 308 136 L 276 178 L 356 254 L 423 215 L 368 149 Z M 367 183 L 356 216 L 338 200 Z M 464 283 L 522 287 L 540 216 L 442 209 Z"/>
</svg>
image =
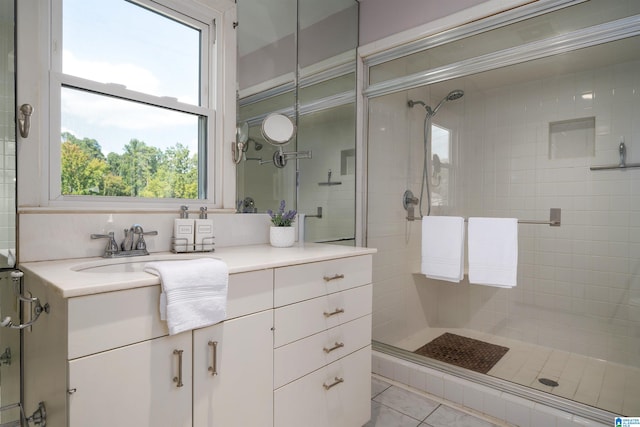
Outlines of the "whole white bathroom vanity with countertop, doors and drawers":
<svg viewBox="0 0 640 427">
<path fill-rule="evenodd" d="M 24 404 L 44 402 L 48 427 L 361 427 L 373 252 L 225 248 L 227 318 L 171 336 L 155 278 L 27 263 L 25 293 L 48 312 L 24 330 Z"/>
</svg>

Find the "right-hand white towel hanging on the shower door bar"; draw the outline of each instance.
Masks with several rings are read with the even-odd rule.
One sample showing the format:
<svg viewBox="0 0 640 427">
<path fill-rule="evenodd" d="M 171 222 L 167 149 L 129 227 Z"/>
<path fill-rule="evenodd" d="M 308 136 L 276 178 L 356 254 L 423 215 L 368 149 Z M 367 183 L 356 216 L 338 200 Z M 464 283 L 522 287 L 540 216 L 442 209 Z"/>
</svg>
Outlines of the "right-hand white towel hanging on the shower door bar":
<svg viewBox="0 0 640 427">
<path fill-rule="evenodd" d="M 518 276 L 518 220 L 469 218 L 469 283 L 511 288 Z"/>
</svg>

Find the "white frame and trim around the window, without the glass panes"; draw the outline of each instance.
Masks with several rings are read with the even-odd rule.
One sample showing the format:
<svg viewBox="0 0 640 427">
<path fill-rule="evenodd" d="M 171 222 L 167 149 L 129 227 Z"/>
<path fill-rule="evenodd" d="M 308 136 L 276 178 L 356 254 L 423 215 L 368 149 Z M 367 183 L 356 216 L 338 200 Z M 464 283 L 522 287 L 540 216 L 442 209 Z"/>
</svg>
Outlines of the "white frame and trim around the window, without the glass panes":
<svg viewBox="0 0 640 427">
<path fill-rule="evenodd" d="M 206 142 L 207 198 L 194 199 L 209 209 L 235 206 L 235 168 L 230 145 L 235 135 L 236 7 L 232 0 L 136 0 L 144 7 L 207 29 L 201 44 L 203 68 L 200 106 L 134 92 L 62 74 L 62 0 L 18 2 L 18 105 L 34 106 L 32 130 L 19 138 L 18 206 L 22 210 L 157 210 L 188 203 L 186 199 L 62 196 L 60 177 L 60 90 L 62 85 L 94 89 L 151 105 L 208 116 Z M 35 47 L 35 48 L 34 48 Z M 25 72 L 21 72 L 24 70 Z M 37 113 L 37 114 L 36 114 Z M 34 170 L 35 169 L 35 170 Z"/>
</svg>

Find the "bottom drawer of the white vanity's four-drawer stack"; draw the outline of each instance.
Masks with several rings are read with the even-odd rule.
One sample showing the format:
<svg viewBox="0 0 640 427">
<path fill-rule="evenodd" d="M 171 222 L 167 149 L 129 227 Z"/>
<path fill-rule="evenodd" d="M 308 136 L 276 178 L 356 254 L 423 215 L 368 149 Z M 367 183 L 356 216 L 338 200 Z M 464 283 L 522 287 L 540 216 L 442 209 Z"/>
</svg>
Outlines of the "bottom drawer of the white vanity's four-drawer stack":
<svg viewBox="0 0 640 427">
<path fill-rule="evenodd" d="M 274 392 L 278 427 L 354 427 L 370 417 L 370 346 Z"/>
</svg>

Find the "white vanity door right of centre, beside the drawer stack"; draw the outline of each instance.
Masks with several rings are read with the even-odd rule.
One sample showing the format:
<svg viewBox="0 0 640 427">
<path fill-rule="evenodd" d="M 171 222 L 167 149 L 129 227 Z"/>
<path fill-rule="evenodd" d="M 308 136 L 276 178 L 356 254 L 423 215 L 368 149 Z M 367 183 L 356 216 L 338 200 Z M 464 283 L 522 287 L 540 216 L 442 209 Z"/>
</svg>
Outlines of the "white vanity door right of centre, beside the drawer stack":
<svg viewBox="0 0 640 427">
<path fill-rule="evenodd" d="M 267 310 L 194 331 L 194 427 L 273 425 L 272 327 Z"/>
</svg>

